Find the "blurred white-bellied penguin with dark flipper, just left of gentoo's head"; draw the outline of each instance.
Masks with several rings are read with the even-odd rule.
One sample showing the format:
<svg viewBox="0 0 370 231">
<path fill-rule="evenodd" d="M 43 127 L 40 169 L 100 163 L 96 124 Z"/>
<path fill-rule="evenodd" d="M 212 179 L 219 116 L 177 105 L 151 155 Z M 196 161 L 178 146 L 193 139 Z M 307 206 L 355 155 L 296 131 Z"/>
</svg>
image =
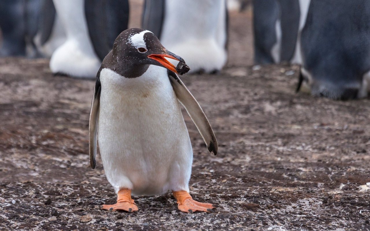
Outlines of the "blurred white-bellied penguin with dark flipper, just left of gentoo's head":
<svg viewBox="0 0 370 231">
<path fill-rule="evenodd" d="M 51 71 L 94 78 L 115 37 L 127 28 L 128 0 L 53 2 L 67 39 L 51 55 Z"/>
</svg>

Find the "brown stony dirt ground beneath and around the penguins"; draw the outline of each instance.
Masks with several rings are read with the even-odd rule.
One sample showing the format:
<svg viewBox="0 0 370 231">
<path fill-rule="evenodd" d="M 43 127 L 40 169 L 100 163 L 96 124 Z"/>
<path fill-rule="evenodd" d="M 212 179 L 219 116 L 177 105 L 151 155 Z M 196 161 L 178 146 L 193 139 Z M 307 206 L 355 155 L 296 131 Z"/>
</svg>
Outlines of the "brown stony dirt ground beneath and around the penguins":
<svg viewBox="0 0 370 231">
<path fill-rule="evenodd" d="M 297 66 L 250 66 L 250 11 L 231 14 L 229 42 L 220 74 L 182 77 L 219 142 L 209 154 L 184 113 L 190 191 L 211 214 L 180 212 L 170 193 L 99 210 L 116 196 L 100 156 L 89 164 L 94 81 L 0 59 L 0 230 L 370 230 L 369 99 L 295 94 Z"/>
</svg>

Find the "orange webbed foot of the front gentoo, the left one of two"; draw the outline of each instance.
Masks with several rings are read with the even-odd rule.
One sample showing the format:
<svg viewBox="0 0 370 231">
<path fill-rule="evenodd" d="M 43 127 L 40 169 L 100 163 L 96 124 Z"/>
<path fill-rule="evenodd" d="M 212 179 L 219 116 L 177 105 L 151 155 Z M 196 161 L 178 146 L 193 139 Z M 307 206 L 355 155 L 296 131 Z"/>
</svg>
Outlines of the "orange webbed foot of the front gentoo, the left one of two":
<svg viewBox="0 0 370 231">
<path fill-rule="evenodd" d="M 103 204 L 100 209 L 105 209 L 111 211 L 124 210 L 129 213 L 138 211 L 134 200 L 131 199 L 131 189 L 123 188 L 117 193 L 117 203 L 116 204 Z"/>
</svg>

